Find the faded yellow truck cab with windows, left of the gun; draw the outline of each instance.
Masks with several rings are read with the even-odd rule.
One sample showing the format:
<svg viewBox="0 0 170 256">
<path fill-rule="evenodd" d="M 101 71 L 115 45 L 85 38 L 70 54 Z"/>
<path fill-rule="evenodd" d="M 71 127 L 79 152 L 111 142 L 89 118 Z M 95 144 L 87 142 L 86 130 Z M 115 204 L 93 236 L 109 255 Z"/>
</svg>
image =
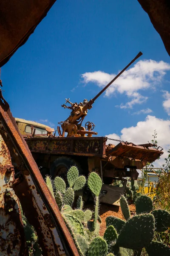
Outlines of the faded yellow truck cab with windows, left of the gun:
<svg viewBox="0 0 170 256">
<path fill-rule="evenodd" d="M 40 124 L 38 122 L 28 121 L 20 118 L 15 118 L 15 121 L 23 137 L 51 136 L 54 132 L 54 128 Z"/>
</svg>

